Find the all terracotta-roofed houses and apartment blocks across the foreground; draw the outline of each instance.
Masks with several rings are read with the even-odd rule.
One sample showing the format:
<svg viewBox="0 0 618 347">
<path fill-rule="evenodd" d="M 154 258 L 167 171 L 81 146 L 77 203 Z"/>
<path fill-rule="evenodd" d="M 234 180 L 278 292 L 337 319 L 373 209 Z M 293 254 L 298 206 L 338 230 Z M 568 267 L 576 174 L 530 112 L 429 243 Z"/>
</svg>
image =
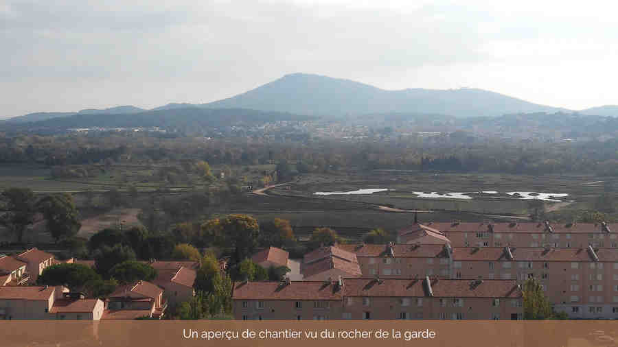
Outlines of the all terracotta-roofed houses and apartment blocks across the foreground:
<svg viewBox="0 0 618 347">
<path fill-rule="evenodd" d="M 557 313 L 615 319 L 618 247 L 612 230 L 618 224 L 415 220 L 398 230 L 396 243 L 323 244 L 302 259 L 263 248 L 245 261 L 262 269 L 284 267 L 284 276 L 255 280 L 240 271 L 227 295 L 237 320 L 522 320 L 523 291 L 534 280 Z M 230 271 L 227 260 L 218 260 L 221 274 Z M 69 289 L 70 283 L 41 283 L 49 283 L 46 272 L 58 265 L 96 268 L 93 260 L 59 260 L 37 248 L 1 255 L 0 319 L 163 319 L 168 307 L 196 296 L 201 261 L 137 263 L 156 276 L 91 297 Z"/>
</svg>

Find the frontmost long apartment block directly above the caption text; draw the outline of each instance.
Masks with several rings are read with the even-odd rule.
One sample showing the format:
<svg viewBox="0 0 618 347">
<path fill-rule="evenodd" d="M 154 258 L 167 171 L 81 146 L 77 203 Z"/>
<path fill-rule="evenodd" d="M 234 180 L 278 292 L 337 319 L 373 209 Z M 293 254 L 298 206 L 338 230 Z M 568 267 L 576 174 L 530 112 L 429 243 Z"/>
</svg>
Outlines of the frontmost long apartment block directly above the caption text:
<svg viewBox="0 0 618 347">
<path fill-rule="evenodd" d="M 238 320 L 510 320 L 522 318 L 514 280 L 339 278 L 234 285 Z"/>
</svg>

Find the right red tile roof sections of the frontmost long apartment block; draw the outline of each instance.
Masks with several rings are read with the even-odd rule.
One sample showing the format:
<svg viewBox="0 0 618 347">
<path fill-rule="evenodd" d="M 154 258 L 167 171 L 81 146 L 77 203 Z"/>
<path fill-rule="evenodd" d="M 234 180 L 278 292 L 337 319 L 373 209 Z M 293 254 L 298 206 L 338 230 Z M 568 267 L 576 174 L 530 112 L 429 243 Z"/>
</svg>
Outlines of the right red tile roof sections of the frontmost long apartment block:
<svg viewBox="0 0 618 347">
<path fill-rule="evenodd" d="M 519 298 L 520 289 L 515 280 L 483 280 L 473 284 L 473 280 L 433 279 L 431 289 L 437 298 Z M 382 296 L 382 297 L 424 297 L 428 296 L 424 278 L 398 279 L 385 278 L 378 282 L 375 278 L 345 278 L 344 296 Z"/>
</svg>

